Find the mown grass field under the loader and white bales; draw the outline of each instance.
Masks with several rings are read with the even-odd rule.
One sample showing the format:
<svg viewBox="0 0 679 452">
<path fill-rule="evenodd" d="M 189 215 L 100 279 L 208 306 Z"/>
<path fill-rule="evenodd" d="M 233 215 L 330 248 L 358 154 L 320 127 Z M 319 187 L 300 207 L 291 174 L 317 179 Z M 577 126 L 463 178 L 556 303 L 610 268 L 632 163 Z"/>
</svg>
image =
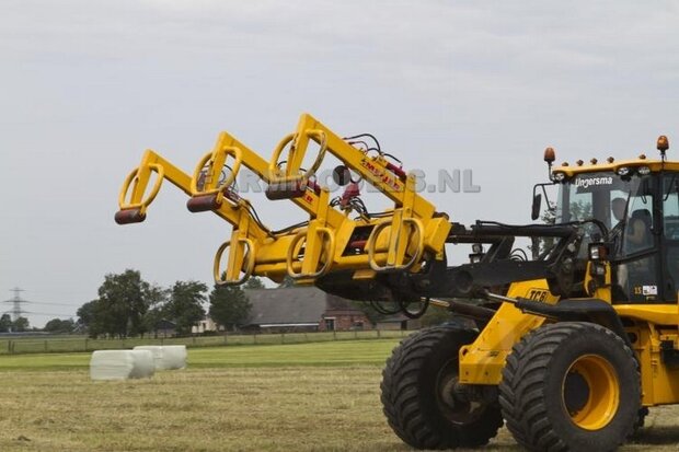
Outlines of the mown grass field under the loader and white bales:
<svg viewBox="0 0 679 452">
<path fill-rule="evenodd" d="M 89 354 L 0 357 L 0 451 L 406 451 L 381 413 L 395 339 L 191 349 L 189 368 L 92 382 Z M 652 409 L 624 451 L 679 448 Z M 486 451 L 518 451 L 506 430 Z"/>
</svg>

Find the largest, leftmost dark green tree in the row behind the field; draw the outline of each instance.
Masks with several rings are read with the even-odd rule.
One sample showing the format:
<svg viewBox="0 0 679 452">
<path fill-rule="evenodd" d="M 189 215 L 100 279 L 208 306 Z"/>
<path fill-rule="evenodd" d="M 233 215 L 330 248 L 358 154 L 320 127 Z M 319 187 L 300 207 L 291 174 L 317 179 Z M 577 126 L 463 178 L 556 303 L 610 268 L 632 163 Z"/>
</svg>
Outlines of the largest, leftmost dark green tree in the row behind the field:
<svg viewBox="0 0 679 452">
<path fill-rule="evenodd" d="M 143 334 L 147 331 L 145 315 L 160 290 L 141 279 L 137 270 L 108 274 L 99 288 L 99 298 L 78 310 L 79 323 L 85 325 L 93 337 Z"/>
</svg>

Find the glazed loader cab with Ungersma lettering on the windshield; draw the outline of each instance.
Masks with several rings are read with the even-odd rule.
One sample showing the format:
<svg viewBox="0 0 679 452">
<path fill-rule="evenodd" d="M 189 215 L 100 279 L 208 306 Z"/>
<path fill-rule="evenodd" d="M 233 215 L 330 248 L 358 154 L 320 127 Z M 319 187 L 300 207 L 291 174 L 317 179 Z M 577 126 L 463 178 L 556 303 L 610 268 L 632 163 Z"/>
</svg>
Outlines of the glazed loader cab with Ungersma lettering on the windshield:
<svg viewBox="0 0 679 452">
<path fill-rule="evenodd" d="M 643 163 L 574 169 L 561 181 L 556 222 L 594 219 L 608 230 L 585 223 L 579 257 L 586 263 L 588 243 L 608 240 L 613 303 L 677 301 L 679 172 Z"/>
</svg>

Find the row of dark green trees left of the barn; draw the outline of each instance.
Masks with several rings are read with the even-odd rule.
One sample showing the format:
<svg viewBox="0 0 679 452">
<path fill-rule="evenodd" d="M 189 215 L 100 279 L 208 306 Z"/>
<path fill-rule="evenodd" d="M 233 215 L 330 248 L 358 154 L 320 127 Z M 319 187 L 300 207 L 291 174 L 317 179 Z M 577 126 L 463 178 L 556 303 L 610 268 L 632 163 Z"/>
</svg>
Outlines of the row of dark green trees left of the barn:
<svg viewBox="0 0 679 452">
<path fill-rule="evenodd" d="M 250 278 L 245 289 L 262 289 Z M 138 270 L 108 274 L 99 297 L 78 309 L 78 324 L 91 337 L 130 337 L 154 334 L 163 321 L 172 322 L 177 335 L 188 335 L 206 314 L 218 325 L 234 329 L 250 316 L 251 304 L 240 287 L 199 281 L 176 281 L 163 288 L 145 281 Z M 207 304 L 207 310 L 205 305 Z"/>
</svg>

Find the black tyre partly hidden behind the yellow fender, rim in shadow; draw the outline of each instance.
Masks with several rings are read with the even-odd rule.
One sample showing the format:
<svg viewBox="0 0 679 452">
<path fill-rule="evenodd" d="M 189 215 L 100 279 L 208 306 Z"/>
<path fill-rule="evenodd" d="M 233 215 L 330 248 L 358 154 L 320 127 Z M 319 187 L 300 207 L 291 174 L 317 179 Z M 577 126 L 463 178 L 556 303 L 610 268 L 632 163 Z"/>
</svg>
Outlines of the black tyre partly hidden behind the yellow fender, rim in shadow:
<svg viewBox="0 0 679 452">
<path fill-rule="evenodd" d="M 382 372 L 382 405 L 394 432 L 417 449 L 484 445 L 502 427 L 497 401 L 463 402 L 453 395 L 458 352 L 476 332 L 457 325 L 423 329 L 396 347 Z"/>
</svg>

